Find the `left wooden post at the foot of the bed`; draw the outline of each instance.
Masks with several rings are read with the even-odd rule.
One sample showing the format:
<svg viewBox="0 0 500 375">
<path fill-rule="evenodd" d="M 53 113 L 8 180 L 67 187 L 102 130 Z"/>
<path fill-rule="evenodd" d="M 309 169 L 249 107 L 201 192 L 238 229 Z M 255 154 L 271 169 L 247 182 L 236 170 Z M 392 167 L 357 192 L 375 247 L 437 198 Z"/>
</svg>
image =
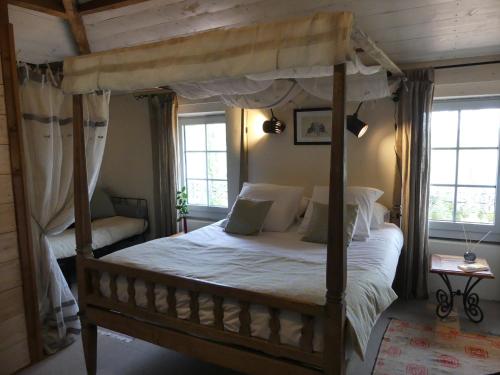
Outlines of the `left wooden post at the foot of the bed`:
<svg viewBox="0 0 500 375">
<path fill-rule="evenodd" d="M 85 299 L 89 290 L 89 280 L 84 274 L 82 265 L 85 258 L 93 258 L 82 95 L 73 96 L 73 163 L 78 305 L 87 374 L 94 375 L 97 367 L 97 327 L 95 324 L 90 324 L 86 317 Z"/>
</svg>

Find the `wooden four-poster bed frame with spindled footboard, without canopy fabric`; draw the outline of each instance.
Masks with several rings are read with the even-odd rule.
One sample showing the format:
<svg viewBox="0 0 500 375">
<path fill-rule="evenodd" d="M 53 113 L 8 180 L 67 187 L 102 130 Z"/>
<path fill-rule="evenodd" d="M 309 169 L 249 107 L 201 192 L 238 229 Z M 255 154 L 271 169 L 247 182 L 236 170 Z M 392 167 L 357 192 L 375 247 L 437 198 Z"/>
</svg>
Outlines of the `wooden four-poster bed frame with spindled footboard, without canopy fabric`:
<svg viewBox="0 0 500 375">
<path fill-rule="evenodd" d="M 391 66 L 392 68 L 394 66 Z M 346 307 L 344 294 L 347 273 L 344 238 L 345 93 L 346 64 L 340 63 L 334 66 L 332 93 L 330 210 L 326 303 L 324 305 L 308 304 L 198 279 L 166 275 L 93 259 L 85 162 L 83 100 L 81 94 L 74 95 L 74 189 L 78 299 L 85 361 L 89 374 L 96 373 L 98 325 L 250 374 L 325 373 L 333 375 L 345 373 Z M 102 273 L 110 275 L 111 296 L 109 298 L 100 293 L 99 282 Z M 117 297 L 118 276 L 125 276 L 127 279 L 129 294 L 127 302 L 121 302 Z M 136 303 L 135 280 L 143 280 L 146 284 L 146 308 Z M 168 312 L 166 314 L 160 314 L 156 310 L 155 284 L 167 286 Z M 191 312 L 188 320 L 177 317 L 175 292 L 178 289 L 187 290 L 190 296 Z M 213 298 L 213 326 L 200 324 L 198 305 L 200 293 L 209 294 Z M 234 299 L 239 302 L 240 328 L 238 332 L 224 330 L 223 302 L 225 299 Z M 268 307 L 271 334 L 267 340 L 250 335 L 249 309 L 251 304 Z M 280 311 L 283 310 L 296 312 L 302 316 L 300 347 L 280 344 L 279 316 Z M 316 319 L 323 320 L 323 352 L 313 351 Z"/>
</svg>

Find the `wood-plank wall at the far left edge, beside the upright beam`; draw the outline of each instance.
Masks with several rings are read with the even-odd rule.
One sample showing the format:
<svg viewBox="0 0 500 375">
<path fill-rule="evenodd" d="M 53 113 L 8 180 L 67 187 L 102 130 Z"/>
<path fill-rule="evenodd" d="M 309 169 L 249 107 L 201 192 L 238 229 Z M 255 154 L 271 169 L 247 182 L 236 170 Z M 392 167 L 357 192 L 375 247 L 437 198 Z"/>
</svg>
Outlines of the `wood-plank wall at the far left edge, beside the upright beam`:
<svg viewBox="0 0 500 375">
<path fill-rule="evenodd" d="M 0 69 L 0 374 L 10 374 L 30 363 L 30 353 L 4 92 Z"/>
</svg>

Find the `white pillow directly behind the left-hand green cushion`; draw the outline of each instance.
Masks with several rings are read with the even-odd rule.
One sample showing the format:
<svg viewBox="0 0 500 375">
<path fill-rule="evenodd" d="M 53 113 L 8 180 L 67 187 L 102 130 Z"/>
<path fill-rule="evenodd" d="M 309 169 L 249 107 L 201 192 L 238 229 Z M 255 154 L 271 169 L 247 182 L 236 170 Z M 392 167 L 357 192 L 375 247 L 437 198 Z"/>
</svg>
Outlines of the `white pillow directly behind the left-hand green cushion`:
<svg viewBox="0 0 500 375">
<path fill-rule="evenodd" d="M 264 231 L 284 232 L 295 220 L 299 212 L 303 187 L 272 184 L 250 184 L 245 182 L 240 192 L 241 198 L 273 201 L 264 221 Z"/>
</svg>

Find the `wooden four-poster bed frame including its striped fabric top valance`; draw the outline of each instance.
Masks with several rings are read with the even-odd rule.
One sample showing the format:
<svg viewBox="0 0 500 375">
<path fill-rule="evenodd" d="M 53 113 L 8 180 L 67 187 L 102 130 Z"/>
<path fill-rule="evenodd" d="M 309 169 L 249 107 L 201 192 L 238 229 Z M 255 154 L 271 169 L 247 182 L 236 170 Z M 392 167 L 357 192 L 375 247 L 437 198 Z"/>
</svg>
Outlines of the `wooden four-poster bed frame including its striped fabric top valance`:
<svg viewBox="0 0 500 375">
<path fill-rule="evenodd" d="M 214 30 L 146 46 L 69 58 L 65 61 L 63 88 L 73 96 L 74 189 L 77 275 L 82 339 L 87 372 L 96 373 L 97 326 L 123 332 L 152 343 L 238 371 L 264 374 L 345 373 L 346 241 L 344 238 L 345 92 L 346 56 L 351 38 L 394 75 L 397 66 L 359 29 L 352 27 L 351 13 L 322 13 L 312 17 Z M 92 255 L 89 194 L 82 94 L 98 89 L 134 90 L 172 83 L 242 77 L 277 71 L 293 76 L 308 67 L 333 66 L 333 124 L 330 158 L 330 207 L 324 305 L 250 292 L 203 280 L 165 275 L 117 265 Z M 202 67 L 202 68 L 201 68 Z M 308 70 L 307 74 L 311 73 Z M 111 296 L 100 293 L 100 275 L 110 275 Z M 118 276 L 128 282 L 128 302 L 117 297 Z M 147 307 L 135 301 L 135 280 L 147 289 Z M 155 306 L 156 284 L 166 285 L 168 312 Z M 177 318 L 175 291 L 190 295 L 191 315 Z M 198 296 L 206 293 L 214 302 L 214 325 L 201 325 Z M 224 330 L 223 301 L 239 301 L 239 332 Z M 269 309 L 269 339 L 250 335 L 251 304 Z M 281 310 L 301 314 L 300 347 L 280 343 Z M 315 319 L 323 320 L 323 352 L 313 351 Z"/>
</svg>

